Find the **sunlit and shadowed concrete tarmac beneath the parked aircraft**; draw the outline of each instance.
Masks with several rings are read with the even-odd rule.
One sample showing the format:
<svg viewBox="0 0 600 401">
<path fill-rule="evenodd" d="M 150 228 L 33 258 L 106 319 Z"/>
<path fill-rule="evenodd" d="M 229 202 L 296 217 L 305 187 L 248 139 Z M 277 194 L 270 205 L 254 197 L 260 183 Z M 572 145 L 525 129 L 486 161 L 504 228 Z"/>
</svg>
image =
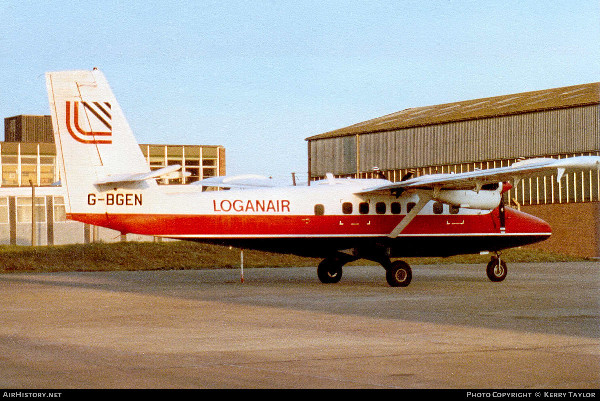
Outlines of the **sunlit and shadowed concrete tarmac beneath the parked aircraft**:
<svg viewBox="0 0 600 401">
<path fill-rule="evenodd" d="M 600 263 L 0 275 L 0 388 L 600 388 Z"/>
</svg>

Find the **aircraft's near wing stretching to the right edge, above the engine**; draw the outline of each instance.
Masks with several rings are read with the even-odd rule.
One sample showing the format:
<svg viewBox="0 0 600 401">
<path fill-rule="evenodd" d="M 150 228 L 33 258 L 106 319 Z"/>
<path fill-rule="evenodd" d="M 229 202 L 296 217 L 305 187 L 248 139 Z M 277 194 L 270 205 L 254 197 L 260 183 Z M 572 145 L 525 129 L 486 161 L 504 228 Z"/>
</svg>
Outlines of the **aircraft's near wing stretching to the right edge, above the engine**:
<svg viewBox="0 0 600 401">
<path fill-rule="evenodd" d="M 532 158 L 517 161 L 508 167 L 476 170 L 456 174 L 422 175 L 406 181 L 365 188 L 359 194 L 388 193 L 387 191 L 405 190 L 475 190 L 485 184 L 512 181 L 516 186 L 521 179 L 530 176 L 551 176 L 557 174 L 560 181 L 565 173 L 584 170 L 600 170 L 600 156 L 577 156 L 569 158 Z"/>
</svg>

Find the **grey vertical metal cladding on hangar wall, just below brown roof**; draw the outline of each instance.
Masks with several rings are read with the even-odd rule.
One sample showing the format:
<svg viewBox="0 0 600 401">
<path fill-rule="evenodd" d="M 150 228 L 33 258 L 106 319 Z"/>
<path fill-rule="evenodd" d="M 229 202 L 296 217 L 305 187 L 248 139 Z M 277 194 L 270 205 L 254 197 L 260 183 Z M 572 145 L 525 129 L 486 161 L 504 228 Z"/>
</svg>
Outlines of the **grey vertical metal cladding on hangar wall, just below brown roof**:
<svg viewBox="0 0 600 401">
<path fill-rule="evenodd" d="M 600 149 L 600 106 L 592 104 L 422 127 L 311 140 L 311 173 L 322 176 L 590 152 Z"/>
</svg>

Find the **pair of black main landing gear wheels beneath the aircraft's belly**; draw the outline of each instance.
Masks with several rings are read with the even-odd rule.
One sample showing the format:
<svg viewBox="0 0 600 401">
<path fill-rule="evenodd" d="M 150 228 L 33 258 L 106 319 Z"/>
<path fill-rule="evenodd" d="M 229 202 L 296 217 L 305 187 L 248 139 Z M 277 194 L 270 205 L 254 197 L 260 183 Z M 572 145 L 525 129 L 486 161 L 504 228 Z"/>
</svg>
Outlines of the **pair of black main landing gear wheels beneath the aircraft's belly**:
<svg viewBox="0 0 600 401">
<path fill-rule="evenodd" d="M 356 258 L 351 259 L 356 260 Z M 347 262 L 351 260 L 344 260 L 342 258 L 328 258 L 322 261 L 317 268 L 317 276 L 324 284 L 334 284 L 341 280 L 343 274 L 343 267 Z M 385 258 L 379 262 L 385 267 L 386 274 L 385 278 L 388 280 L 388 284 L 392 287 L 407 287 L 412 281 L 412 269 L 409 264 L 404 261 L 389 261 L 389 258 Z"/>
</svg>

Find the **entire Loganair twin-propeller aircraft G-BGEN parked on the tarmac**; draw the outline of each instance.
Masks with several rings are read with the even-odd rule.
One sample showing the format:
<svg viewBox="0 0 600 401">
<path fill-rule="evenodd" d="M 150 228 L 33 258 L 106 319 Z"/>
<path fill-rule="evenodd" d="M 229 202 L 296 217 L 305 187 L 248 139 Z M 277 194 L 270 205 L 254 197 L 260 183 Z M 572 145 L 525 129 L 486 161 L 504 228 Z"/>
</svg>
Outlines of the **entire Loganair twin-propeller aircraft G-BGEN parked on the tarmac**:
<svg viewBox="0 0 600 401">
<path fill-rule="evenodd" d="M 323 258 L 323 283 L 337 283 L 357 259 L 377 262 L 389 285 L 412 270 L 390 258 L 493 252 L 490 280 L 506 277 L 503 249 L 544 241 L 548 223 L 505 208 L 502 193 L 524 176 L 600 169 L 600 157 L 536 158 L 510 167 L 403 181 L 327 179 L 275 187 L 260 176 L 158 185 L 181 166 L 152 171 L 104 74 L 47 73 L 67 217 L 123 233 Z M 230 188 L 202 191 L 203 187 Z"/>
</svg>

